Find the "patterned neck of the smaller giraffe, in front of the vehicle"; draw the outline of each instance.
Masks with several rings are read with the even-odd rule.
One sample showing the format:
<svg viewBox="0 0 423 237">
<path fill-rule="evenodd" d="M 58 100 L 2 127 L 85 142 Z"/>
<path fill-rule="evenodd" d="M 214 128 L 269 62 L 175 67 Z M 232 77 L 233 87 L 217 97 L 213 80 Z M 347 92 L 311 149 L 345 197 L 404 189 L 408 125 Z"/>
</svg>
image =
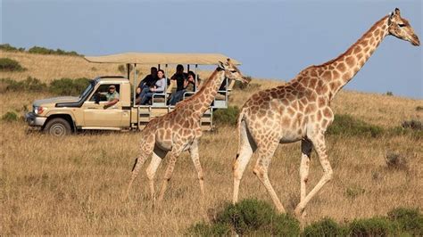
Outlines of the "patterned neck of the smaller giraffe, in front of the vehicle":
<svg viewBox="0 0 423 237">
<path fill-rule="evenodd" d="M 211 73 L 210 78 L 204 83 L 201 89 L 187 100 L 187 102 L 194 104 L 193 116 L 195 118 L 203 117 L 206 110 L 210 108 L 211 102 L 218 94 L 218 90 L 223 80 L 225 79 L 225 71 L 223 69 L 216 69 Z"/>
</svg>

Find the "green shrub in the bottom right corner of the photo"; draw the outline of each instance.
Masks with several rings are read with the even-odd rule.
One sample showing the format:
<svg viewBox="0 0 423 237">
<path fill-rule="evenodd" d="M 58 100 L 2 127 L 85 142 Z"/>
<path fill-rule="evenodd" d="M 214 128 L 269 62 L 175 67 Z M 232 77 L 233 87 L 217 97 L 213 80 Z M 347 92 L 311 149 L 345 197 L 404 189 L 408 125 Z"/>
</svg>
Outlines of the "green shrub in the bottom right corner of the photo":
<svg viewBox="0 0 423 237">
<path fill-rule="evenodd" d="M 394 208 L 387 213 L 392 221 L 396 221 L 402 232 L 413 236 L 423 236 L 423 215 L 417 208 Z"/>
</svg>

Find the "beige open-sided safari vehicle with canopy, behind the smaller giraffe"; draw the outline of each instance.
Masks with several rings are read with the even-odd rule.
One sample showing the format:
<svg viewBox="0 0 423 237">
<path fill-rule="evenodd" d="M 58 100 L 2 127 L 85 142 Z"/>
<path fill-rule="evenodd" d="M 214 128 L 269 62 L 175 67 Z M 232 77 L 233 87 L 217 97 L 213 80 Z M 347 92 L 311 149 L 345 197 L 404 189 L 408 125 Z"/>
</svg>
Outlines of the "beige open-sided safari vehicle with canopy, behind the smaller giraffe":
<svg viewBox="0 0 423 237">
<path fill-rule="evenodd" d="M 170 94 L 176 89 L 173 80 L 166 86 L 162 94 L 153 94 L 149 105 L 136 104 L 136 89 L 139 83 L 137 65 L 157 66 L 165 71 L 170 80 L 169 67 L 177 64 L 187 65 L 186 69 L 194 67 L 195 85 L 198 85 L 198 66 L 217 65 L 219 61 L 226 61 L 228 57 L 216 53 L 120 53 L 107 56 L 85 57 L 93 63 L 119 63 L 127 66 L 127 78 L 121 76 L 105 76 L 90 80 L 87 88 L 79 97 L 55 97 L 37 100 L 33 103 L 33 110 L 25 115 L 30 127 L 38 127 L 50 135 L 69 135 L 80 130 L 140 130 L 156 117 L 170 112 L 175 106 L 168 105 Z M 232 61 L 239 65 L 236 60 Z M 133 83 L 130 83 L 130 69 L 133 71 Z M 226 86 L 219 91 L 211 107 L 201 120 L 204 130 L 213 128 L 213 110 L 228 108 L 228 96 L 235 81 L 224 82 Z M 109 86 L 115 86 L 120 94 L 119 102 L 104 109 L 107 103 L 104 96 Z M 187 92 L 184 98 L 195 94 Z"/>
</svg>

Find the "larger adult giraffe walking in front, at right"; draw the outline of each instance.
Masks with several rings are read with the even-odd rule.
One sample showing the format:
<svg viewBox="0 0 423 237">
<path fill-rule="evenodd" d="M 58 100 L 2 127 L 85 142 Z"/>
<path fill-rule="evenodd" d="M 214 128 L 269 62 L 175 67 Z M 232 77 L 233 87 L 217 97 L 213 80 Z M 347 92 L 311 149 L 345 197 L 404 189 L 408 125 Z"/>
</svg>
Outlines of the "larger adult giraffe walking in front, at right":
<svg viewBox="0 0 423 237">
<path fill-rule="evenodd" d="M 303 69 L 284 86 L 261 91 L 245 102 L 238 119 L 239 150 L 234 163 L 234 196 L 238 200 L 239 183 L 253 155 L 258 159 L 253 173 L 264 184 L 278 208 L 285 212 L 268 177 L 268 168 L 278 143 L 301 141 L 300 203 L 294 210 L 297 217 L 311 198 L 333 177 L 326 151 L 325 132 L 334 120 L 330 102 L 336 93 L 361 69 L 380 42 L 388 35 L 419 45 L 419 38 L 408 20 L 395 9 L 378 20 L 354 45 L 336 59 Z M 306 194 L 311 150 L 317 152 L 324 174 Z"/>
</svg>

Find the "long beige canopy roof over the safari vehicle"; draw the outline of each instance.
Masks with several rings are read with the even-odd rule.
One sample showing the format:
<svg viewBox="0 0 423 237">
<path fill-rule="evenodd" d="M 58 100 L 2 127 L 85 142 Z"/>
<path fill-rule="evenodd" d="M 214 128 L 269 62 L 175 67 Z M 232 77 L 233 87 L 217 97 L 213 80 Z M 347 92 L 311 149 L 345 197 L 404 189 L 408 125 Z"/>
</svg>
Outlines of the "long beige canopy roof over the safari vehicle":
<svg viewBox="0 0 423 237">
<path fill-rule="evenodd" d="M 118 53 L 104 56 L 85 56 L 89 62 L 125 64 L 198 64 L 217 65 L 229 57 L 220 53 Z M 230 59 L 239 65 L 239 61 Z"/>
</svg>

